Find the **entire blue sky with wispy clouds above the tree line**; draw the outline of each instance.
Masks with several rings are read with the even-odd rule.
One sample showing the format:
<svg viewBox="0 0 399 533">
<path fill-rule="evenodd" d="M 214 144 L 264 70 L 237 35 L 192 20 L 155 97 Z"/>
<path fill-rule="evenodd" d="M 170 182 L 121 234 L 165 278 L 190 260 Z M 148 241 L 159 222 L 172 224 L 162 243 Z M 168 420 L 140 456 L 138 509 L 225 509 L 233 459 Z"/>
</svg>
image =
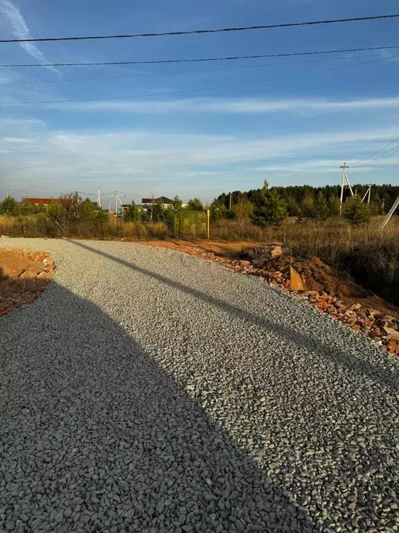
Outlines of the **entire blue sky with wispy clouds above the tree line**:
<svg viewBox="0 0 399 533">
<path fill-rule="evenodd" d="M 0 0 L 0 35 L 161 32 L 396 11 L 394 0 Z M 1 63 L 184 59 L 393 46 L 399 44 L 398 29 L 399 19 L 391 19 L 10 43 L 0 50 Z M 7 189 L 17 198 L 72 189 L 95 193 L 100 184 L 105 192 L 127 194 L 126 200 L 150 194 L 186 200 L 259 187 L 264 179 L 272 185 L 338 183 L 342 162 L 367 157 L 399 136 L 398 82 L 399 49 L 172 65 L 0 68 L 0 196 Z M 231 86 L 197 91 L 215 85 Z M 177 91 L 191 92 L 111 99 Z M 95 100 L 102 98 L 110 99 Z M 94 101 L 26 103 L 82 99 Z M 398 185 L 398 164 L 399 153 L 350 172 L 360 183 Z"/>
</svg>

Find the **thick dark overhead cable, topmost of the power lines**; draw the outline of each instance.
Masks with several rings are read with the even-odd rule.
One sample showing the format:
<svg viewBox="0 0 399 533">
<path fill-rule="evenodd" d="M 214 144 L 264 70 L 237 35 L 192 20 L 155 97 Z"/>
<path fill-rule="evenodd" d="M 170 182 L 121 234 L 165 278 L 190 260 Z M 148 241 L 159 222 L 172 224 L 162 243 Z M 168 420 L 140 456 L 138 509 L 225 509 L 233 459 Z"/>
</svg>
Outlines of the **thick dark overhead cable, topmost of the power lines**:
<svg viewBox="0 0 399 533">
<path fill-rule="evenodd" d="M 82 37 L 40 37 L 29 39 L 0 39 L 0 42 L 48 42 L 48 41 L 83 41 L 98 39 L 126 39 L 132 37 L 164 37 L 166 35 L 193 35 L 204 33 L 221 33 L 229 31 L 269 30 L 272 28 L 292 28 L 294 26 L 316 26 L 318 24 L 340 24 L 342 22 L 360 22 L 365 20 L 393 19 L 395 15 L 375 15 L 374 17 L 352 17 L 350 19 L 315 20 L 310 22 L 287 22 L 284 24 L 260 24 L 258 26 L 237 26 L 235 28 L 216 28 L 205 30 L 164 31 L 160 33 L 127 33 L 122 35 L 83 35 Z"/>
</svg>

